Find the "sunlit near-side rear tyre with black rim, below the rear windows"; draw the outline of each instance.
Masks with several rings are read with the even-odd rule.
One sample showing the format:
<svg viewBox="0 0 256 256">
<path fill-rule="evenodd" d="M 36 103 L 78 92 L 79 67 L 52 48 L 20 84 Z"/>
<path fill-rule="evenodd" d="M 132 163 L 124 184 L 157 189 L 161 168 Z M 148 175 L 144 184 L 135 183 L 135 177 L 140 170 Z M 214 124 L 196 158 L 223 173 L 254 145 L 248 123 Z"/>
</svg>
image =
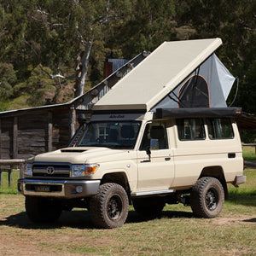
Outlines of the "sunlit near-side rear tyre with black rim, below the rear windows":
<svg viewBox="0 0 256 256">
<path fill-rule="evenodd" d="M 192 188 L 190 206 L 197 217 L 215 218 L 224 205 L 224 189 L 215 177 L 201 177 Z"/>
</svg>

